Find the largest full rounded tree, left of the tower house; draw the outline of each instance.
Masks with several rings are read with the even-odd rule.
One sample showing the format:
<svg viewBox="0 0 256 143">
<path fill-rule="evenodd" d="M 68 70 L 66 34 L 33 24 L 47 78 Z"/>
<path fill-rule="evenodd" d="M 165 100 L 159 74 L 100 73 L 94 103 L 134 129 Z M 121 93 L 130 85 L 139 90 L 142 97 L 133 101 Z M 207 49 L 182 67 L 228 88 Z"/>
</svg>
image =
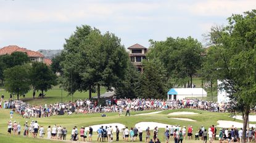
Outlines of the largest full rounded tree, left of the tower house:
<svg viewBox="0 0 256 143">
<path fill-rule="evenodd" d="M 101 34 L 90 26 L 76 28 L 75 34 L 66 40 L 64 55 L 64 87 L 71 94 L 89 90 L 89 98 L 97 87 L 98 99 L 100 86 L 107 90 L 117 87 L 128 61 L 128 53 L 118 37 L 109 32 Z"/>
</svg>

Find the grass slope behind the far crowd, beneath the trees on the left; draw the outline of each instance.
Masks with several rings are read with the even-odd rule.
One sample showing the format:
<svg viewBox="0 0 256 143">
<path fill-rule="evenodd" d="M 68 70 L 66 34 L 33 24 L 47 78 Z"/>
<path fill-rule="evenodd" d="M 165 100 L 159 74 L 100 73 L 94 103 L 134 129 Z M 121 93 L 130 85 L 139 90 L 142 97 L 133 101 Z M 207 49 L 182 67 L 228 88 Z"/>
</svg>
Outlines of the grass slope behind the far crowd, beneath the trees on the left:
<svg viewBox="0 0 256 143">
<path fill-rule="evenodd" d="M 105 88 L 101 87 L 101 94 L 105 93 Z M 20 97 L 20 99 L 22 99 L 25 102 L 28 102 L 30 104 L 33 105 L 44 105 L 44 104 L 52 104 L 55 102 L 61 102 L 61 97 L 62 97 L 62 101 L 66 102 L 66 101 L 72 101 L 72 96 L 68 96 L 68 92 L 61 90 L 61 88 L 59 88 L 58 86 L 53 87 L 51 90 L 46 92 L 46 96 L 44 98 L 38 98 L 39 92 L 36 92 L 36 98 L 33 99 L 33 90 L 30 90 L 25 98 Z M 62 96 L 61 96 L 62 93 Z M 8 93 L 5 90 L 0 90 L 0 95 L 4 94 L 5 99 L 7 100 L 10 97 L 10 93 Z M 97 93 L 92 93 L 92 96 L 97 96 Z M 15 99 L 17 99 L 17 96 L 14 97 Z M 86 99 L 89 98 L 89 92 L 78 92 L 76 91 L 73 95 L 73 101 L 75 101 L 75 99 Z"/>
</svg>

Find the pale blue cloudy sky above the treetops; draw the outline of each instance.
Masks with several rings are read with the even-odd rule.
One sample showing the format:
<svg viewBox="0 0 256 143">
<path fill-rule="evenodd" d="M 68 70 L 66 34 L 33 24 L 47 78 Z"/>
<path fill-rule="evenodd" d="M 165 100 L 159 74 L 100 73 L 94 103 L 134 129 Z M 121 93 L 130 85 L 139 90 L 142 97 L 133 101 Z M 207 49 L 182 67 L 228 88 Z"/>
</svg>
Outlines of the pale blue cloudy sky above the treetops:
<svg viewBox="0 0 256 143">
<path fill-rule="evenodd" d="M 76 26 L 110 31 L 126 48 L 149 39 L 192 36 L 256 8 L 256 0 L 0 0 L 0 47 L 63 49 Z"/>
</svg>

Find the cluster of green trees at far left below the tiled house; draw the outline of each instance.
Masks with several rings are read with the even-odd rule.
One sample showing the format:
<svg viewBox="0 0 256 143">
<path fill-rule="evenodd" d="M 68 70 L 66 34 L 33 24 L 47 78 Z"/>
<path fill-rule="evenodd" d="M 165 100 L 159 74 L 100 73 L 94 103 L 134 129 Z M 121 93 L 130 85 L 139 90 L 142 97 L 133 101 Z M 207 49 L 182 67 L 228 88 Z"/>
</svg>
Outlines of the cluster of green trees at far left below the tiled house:
<svg viewBox="0 0 256 143">
<path fill-rule="evenodd" d="M 44 91 L 57 85 L 57 76 L 43 62 L 30 63 L 30 58 L 23 52 L 14 52 L 0 56 L 0 79 L 10 94 L 25 95 L 31 89 Z"/>
</svg>

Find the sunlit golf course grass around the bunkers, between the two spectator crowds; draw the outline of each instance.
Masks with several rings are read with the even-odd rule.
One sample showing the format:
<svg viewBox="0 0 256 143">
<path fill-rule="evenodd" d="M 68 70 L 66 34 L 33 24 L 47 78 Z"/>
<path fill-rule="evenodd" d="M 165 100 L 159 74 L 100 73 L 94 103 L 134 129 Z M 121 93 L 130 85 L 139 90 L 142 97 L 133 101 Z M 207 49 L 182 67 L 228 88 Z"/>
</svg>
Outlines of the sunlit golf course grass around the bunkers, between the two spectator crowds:
<svg viewBox="0 0 256 143">
<path fill-rule="evenodd" d="M 197 115 L 175 115 L 171 116 L 168 115 L 171 112 L 180 112 L 180 111 L 189 111 L 189 112 L 196 112 Z M 27 143 L 27 142 L 54 142 L 54 141 L 48 141 L 44 139 L 32 139 L 31 137 L 23 138 L 23 137 L 14 137 L 12 135 L 11 137 L 7 134 L 7 122 L 10 120 L 9 118 L 9 109 L 0 109 L 0 142 L 21 142 L 21 143 Z M 141 111 L 141 112 L 131 112 L 131 115 L 134 114 L 141 114 L 141 113 L 147 113 L 147 112 L 155 112 L 155 110 L 151 111 Z M 218 120 L 231 120 L 234 121 L 233 118 L 229 117 L 229 113 L 217 113 L 217 112 L 207 112 L 204 110 L 194 110 L 194 109 L 178 109 L 178 110 L 165 110 L 163 112 L 160 112 L 159 114 L 151 114 L 151 115 L 140 115 L 140 116 L 131 116 L 131 117 L 125 117 L 124 113 L 121 117 L 118 117 L 118 113 L 108 113 L 107 117 L 101 117 L 101 114 L 74 114 L 74 115 L 62 115 L 62 116 L 52 116 L 48 118 L 30 118 L 30 119 L 24 119 L 19 114 L 14 114 L 14 118 L 12 121 L 16 120 L 17 122 L 20 122 L 21 125 L 25 123 L 25 120 L 28 120 L 29 122 L 31 120 L 37 120 L 39 125 L 43 125 L 45 130 L 47 129 L 47 126 L 49 125 L 62 125 L 65 126 L 68 129 L 68 135 L 67 139 L 70 139 L 70 131 L 73 126 L 78 126 L 80 128 L 81 126 L 89 126 L 89 125 L 98 125 L 101 123 L 122 123 L 128 128 L 133 127 L 138 122 L 159 122 L 159 123 L 167 123 L 170 125 L 178 125 L 181 126 L 188 126 L 193 125 L 194 131 L 196 131 L 201 125 L 204 125 L 205 128 L 207 128 L 210 125 L 217 125 Z M 175 120 L 171 119 L 170 117 L 177 117 L 177 118 L 191 118 L 193 120 L 196 120 L 197 122 L 188 122 L 188 121 L 182 121 L 182 120 Z M 236 122 L 242 122 L 240 120 L 236 120 Z M 254 122 L 252 122 L 254 123 Z M 22 128 L 23 129 L 23 128 Z M 160 128 L 159 131 L 159 138 L 160 141 L 164 142 L 163 140 L 163 129 Z M 114 134 L 115 135 L 115 134 Z M 121 135 L 120 135 L 121 136 Z M 145 133 L 144 133 L 145 137 Z M 143 139 L 144 139 L 143 137 Z M 115 138 L 115 136 L 114 136 Z M 96 139 L 96 133 L 94 133 L 93 136 L 94 142 Z M 120 139 L 122 142 L 122 137 Z M 186 141 L 187 142 L 187 141 Z M 189 141 L 192 143 L 199 143 L 199 141 Z M 200 141 L 202 142 L 202 141 Z M 217 142 L 217 141 L 215 141 Z"/>
</svg>

